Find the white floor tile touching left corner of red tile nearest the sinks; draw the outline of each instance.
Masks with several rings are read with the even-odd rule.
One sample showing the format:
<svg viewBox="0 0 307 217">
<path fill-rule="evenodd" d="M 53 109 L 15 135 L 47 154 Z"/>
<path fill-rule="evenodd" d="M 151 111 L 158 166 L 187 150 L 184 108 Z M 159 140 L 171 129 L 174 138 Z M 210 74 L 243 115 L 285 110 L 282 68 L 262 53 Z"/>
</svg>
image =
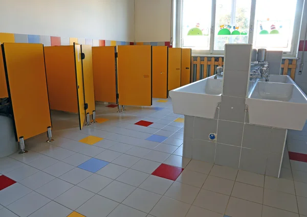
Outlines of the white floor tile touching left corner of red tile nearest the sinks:
<svg viewBox="0 0 307 217">
<path fill-rule="evenodd" d="M 145 181 L 145 179 L 147 179 L 148 176 L 149 174 L 129 169 L 120 175 L 116 180 L 138 187 L 143 181 Z"/>
</svg>

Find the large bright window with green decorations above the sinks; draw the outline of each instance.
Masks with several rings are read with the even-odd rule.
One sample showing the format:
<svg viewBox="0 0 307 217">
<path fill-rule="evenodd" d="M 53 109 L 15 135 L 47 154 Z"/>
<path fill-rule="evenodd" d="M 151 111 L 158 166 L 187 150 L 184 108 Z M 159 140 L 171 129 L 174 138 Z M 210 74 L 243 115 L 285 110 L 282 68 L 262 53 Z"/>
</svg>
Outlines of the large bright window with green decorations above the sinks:
<svg viewBox="0 0 307 217">
<path fill-rule="evenodd" d="M 224 54 L 225 43 L 295 55 L 303 0 L 174 0 L 180 5 L 178 46 L 193 54 Z"/>
</svg>

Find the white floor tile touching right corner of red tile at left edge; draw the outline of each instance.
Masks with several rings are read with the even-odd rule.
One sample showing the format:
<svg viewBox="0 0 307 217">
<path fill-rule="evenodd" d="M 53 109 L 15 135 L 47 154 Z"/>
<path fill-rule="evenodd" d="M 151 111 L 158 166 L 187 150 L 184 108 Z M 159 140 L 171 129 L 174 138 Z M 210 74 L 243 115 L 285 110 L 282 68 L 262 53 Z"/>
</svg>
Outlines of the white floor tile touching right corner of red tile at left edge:
<svg viewBox="0 0 307 217">
<path fill-rule="evenodd" d="M 48 182 L 54 180 L 55 177 L 51 176 L 47 173 L 44 173 L 42 171 L 39 171 L 21 181 L 19 181 L 20 184 L 25 185 L 28 188 L 31 188 L 32 190 L 35 190 L 42 185 L 47 184 Z"/>
</svg>

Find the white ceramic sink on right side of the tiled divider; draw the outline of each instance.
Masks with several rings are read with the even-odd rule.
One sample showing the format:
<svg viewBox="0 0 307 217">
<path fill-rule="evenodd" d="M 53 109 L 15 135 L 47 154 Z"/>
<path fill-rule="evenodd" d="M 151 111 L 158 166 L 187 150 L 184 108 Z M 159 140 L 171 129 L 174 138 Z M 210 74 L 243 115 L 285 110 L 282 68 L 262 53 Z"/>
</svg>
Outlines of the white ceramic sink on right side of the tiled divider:
<svg viewBox="0 0 307 217">
<path fill-rule="evenodd" d="M 245 103 L 251 124 L 302 130 L 307 119 L 307 97 L 293 81 L 257 82 Z"/>
</svg>

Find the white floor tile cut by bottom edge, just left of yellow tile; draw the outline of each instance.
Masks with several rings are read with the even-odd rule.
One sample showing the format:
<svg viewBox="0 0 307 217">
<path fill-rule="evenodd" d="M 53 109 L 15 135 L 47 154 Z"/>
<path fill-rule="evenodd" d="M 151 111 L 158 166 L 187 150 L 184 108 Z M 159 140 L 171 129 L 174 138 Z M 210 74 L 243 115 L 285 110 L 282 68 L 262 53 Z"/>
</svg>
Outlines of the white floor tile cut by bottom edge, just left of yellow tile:
<svg viewBox="0 0 307 217">
<path fill-rule="evenodd" d="M 29 217 L 55 217 L 55 216 L 67 216 L 72 212 L 69 208 L 66 208 L 54 201 L 49 202 L 45 206 L 41 207 Z"/>
</svg>

